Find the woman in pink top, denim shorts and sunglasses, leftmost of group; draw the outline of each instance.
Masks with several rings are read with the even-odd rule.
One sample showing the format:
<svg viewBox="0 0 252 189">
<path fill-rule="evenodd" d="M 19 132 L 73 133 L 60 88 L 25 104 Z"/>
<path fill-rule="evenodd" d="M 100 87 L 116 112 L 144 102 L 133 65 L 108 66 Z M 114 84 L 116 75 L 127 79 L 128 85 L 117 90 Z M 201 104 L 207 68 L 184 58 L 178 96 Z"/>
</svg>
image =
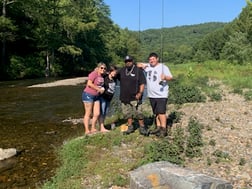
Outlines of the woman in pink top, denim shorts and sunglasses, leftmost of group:
<svg viewBox="0 0 252 189">
<path fill-rule="evenodd" d="M 105 72 L 106 64 L 100 62 L 95 70 L 88 75 L 87 85 L 82 92 L 82 102 L 85 109 L 83 123 L 85 127 L 85 134 L 87 135 L 97 132 L 95 126 L 100 115 L 100 95 L 104 92 L 104 78 L 102 77 L 102 75 Z M 91 116 L 92 124 L 90 129 L 89 120 Z"/>
</svg>

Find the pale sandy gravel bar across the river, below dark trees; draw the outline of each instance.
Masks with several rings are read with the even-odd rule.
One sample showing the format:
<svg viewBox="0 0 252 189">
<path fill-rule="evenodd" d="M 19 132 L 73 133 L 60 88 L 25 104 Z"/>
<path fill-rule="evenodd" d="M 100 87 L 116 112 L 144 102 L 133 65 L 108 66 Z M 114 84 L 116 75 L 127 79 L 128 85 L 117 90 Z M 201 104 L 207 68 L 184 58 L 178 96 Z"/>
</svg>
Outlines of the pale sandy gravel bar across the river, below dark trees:
<svg viewBox="0 0 252 189">
<path fill-rule="evenodd" d="M 28 88 L 78 85 L 78 84 L 85 83 L 86 80 L 87 80 L 87 77 L 76 77 L 76 78 L 71 78 L 71 79 L 58 80 L 58 81 L 54 81 L 54 82 L 50 82 L 50 83 L 31 85 L 31 86 L 28 86 Z"/>
</svg>

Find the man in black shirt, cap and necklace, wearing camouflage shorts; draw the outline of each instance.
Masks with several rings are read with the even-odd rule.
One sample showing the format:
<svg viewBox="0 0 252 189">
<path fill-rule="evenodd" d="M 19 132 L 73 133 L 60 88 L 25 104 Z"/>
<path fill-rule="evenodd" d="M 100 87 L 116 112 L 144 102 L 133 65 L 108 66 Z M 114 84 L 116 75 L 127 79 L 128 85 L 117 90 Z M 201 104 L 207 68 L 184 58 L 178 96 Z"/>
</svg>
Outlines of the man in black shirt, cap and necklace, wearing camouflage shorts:
<svg viewBox="0 0 252 189">
<path fill-rule="evenodd" d="M 146 84 L 143 70 L 138 68 L 131 56 L 124 59 L 125 66 L 119 71 L 120 80 L 120 100 L 122 102 L 122 112 L 127 119 L 128 130 L 124 134 L 134 132 L 133 119 L 138 119 L 139 133 L 148 136 L 149 132 L 144 125 L 144 115 L 142 113 L 142 97 Z"/>
</svg>

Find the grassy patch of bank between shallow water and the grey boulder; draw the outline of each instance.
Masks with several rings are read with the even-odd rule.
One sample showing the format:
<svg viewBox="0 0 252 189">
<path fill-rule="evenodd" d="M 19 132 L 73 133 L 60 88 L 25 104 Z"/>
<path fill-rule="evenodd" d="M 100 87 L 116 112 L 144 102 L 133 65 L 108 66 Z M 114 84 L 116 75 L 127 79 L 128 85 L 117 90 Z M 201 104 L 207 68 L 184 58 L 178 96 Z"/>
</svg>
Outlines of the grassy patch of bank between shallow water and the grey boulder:
<svg viewBox="0 0 252 189">
<path fill-rule="evenodd" d="M 82 180 L 88 180 L 94 188 L 96 184 L 102 188 L 109 188 L 111 184 L 125 186 L 129 182 L 128 172 L 139 166 L 143 145 L 150 140 L 144 141 L 138 131 L 123 136 L 120 128 L 106 134 L 70 140 L 59 149 L 62 164 L 56 176 L 41 188 L 83 188 Z M 123 146 L 133 148 L 128 150 Z"/>
</svg>

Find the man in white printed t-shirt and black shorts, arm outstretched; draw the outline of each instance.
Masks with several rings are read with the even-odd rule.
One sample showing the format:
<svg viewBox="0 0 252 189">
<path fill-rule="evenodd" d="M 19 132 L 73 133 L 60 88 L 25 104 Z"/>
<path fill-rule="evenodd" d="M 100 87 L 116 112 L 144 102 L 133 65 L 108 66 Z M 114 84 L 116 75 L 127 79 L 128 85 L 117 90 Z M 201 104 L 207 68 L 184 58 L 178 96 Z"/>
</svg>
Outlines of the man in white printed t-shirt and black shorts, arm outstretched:
<svg viewBox="0 0 252 189">
<path fill-rule="evenodd" d="M 169 68 L 163 63 L 159 63 L 156 53 L 150 53 L 149 63 L 138 63 L 137 66 L 146 72 L 147 96 L 150 100 L 153 114 L 156 116 L 156 129 L 150 131 L 159 137 L 167 136 L 166 128 L 166 105 L 168 101 L 169 85 L 172 74 Z"/>
</svg>

